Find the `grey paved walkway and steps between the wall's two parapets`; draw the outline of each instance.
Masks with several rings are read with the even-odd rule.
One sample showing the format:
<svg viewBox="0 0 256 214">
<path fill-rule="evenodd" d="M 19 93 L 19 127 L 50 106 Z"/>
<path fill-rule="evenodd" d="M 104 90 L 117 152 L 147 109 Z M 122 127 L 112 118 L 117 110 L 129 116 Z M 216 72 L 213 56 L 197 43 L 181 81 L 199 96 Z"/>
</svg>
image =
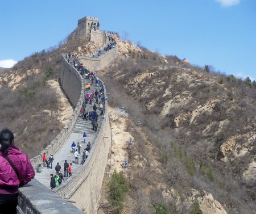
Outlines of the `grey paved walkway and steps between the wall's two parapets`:
<svg viewBox="0 0 256 214">
<path fill-rule="evenodd" d="M 88 83 L 89 79 L 84 79 L 84 84 Z M 90 82 L 89 82 L 90 83 Z M 94 84 L 93 86 L 90 86 L 90 90 L 89 92 L 91 92 L 92 90 L 94 91 L 99 91 L 99 88 L 97 87 L 96 84 Z M 85 93 L 86 94 L 86 93 Z M 99 99 L 100 100 L 100 99 Z M 86 111 L 90 112 L 93 111 L 93 105 L 96 102 L 95 97 L 93 98 L 93 102 L 92 104 L 86 104 Z M 99 106 L 98 104 L 96 104 L 97 106 L 97 114 L 99 115 L 98 117 L 98 130 L 97 133 L 100 131 L 101 128 L 101 121 L 102 121 L 102 115 L 100 115 L 101 111 L 98 109 Z M 85 121 L 82 120 L 81 118 L 78 118 L 76 121 L 76 124 L 72 130 L 71 135 L 68 137 L 68 139 L 64 142 L 62 148 L 59 149 L 59 151 L 54 154 L 53 158 L 54 161 L 52 163 L 52 169 L 47 169 L 47 167 L 43 167 L 42 172 L 41 173 L 36 173 L 35 178 L 38 179 L 38 181 L 42 184 L 44 184 L 45 186 L 47 186 L 48 188 L 50 188 L 50 174 L 55 175 L 56 171 L 55 171 L 55 166 L 57 165 L 57 162 L 59 162 L 59 165 L 61 166 L 61 173 L 63 173 L 64 176 L 64 161 L 67 160 L 68 163 L 72 162 L 72 177 L 76 176 L 76 172 L 77 170 L 79 170 L 79 168 L 81 167 L 80 162 L 82 160 L 82 152 L 84 151 L 84 149 L 86 148 L 86 145 L 88 142 L 90 142 L 93 146 L 93 142 L 97 137 L 97 133 L 94 132 L 92 130 L 92 125 L 90 124 L 91 121 Z M 87 135 L 87 139 L 86 139 L 86 143 L 84 144 L 82 135 L 83 133 L 86 133 Z M 77 141 L 79 141 L 81 143 L 81 154 L 79 155 L 79 164 L 75 164 L 75 157 L 74 154 L 72 153 L 72 148 L 71 148 L 71 144 L 72 142 L 75 141 L 76 145 L 77 145 Z M 90 156 L 90 154 L 89 154 Z M 48 157 L 47 157 L 48 158 Z M 84 165 L 87 163 L 87 160 L 85 160 Z M 72 178 L 71 177 L 71 178 Z M 70 181 L 70 178 L 64 178 L 64 182 L 68 182 Z"/>
</svg>

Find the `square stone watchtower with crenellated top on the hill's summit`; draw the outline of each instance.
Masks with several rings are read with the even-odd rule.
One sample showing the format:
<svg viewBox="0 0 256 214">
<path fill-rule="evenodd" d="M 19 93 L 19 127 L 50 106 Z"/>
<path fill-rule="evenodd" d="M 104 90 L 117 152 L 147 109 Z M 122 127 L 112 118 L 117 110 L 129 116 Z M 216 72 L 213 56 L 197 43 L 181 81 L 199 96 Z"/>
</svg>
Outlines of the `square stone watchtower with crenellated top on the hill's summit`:
<svg viewBox="0 0 256 214">
<path fill-rule="evenodd" d="M 90 32 L 92 30 L 100 30 L 100 23 L 98 18 L 92 16 L 85 16 L 78 20 L 77 23 L 77 34 L 79 36 L 88 36 L 90 37 Z"/>
</svg>

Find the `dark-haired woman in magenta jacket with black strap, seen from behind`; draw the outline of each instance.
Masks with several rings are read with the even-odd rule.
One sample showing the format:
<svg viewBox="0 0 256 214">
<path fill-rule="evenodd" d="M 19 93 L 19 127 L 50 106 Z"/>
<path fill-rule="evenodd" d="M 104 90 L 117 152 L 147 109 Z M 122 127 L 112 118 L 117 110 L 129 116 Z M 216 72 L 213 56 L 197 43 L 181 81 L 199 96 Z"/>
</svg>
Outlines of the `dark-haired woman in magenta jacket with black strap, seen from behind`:
<svg viewBox="0 0 256 214">
<path fill-rule="evenodd" d="M 9 129 L 0 132 L 0 213 L 16 213 L 18 204 L 18 188 L 35 177 L 30 160 L 26 154 L 14 146 L 14 135 Z M 18 171 L 6 160 L 9 158 Z"/>
</svg>

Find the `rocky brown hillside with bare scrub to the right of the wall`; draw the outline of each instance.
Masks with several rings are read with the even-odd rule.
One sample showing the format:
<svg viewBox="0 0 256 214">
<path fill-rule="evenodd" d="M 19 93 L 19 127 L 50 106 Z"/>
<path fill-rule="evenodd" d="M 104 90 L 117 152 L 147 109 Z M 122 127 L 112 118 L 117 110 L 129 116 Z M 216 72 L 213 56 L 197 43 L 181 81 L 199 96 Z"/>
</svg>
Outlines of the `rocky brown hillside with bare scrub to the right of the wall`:
<svg viewBox="0 0 256 214">
<path fill-rule="evenodd" d="M 142 157 L 129 156 L 140 170 L 131 182 L 145 181 L 148 194 L 166 191 L 149 200 L 164 202 L 170 213 L 186 213 L 181 210 L 187 207 L 185 195 L 191 194 L 212 194 L 228 213 L 255 213 L 255 82 L 205 72 L 176 56 L 159 56 L 116 40 L 120 57 L 101 78 L 110 105 L 124 104 L 129 112 L 127 130 L 137 119 L 142 122 L 145 136 L 137 138 L 135 150 Z M 143 144 L 153 146 L 159 171 Z M 164 188 L 154 182 L 159 179 Z M 177 203 L 183 206 L 164 199 L 174 197 L 175 191 L 182 195 Z"/>
</svg>

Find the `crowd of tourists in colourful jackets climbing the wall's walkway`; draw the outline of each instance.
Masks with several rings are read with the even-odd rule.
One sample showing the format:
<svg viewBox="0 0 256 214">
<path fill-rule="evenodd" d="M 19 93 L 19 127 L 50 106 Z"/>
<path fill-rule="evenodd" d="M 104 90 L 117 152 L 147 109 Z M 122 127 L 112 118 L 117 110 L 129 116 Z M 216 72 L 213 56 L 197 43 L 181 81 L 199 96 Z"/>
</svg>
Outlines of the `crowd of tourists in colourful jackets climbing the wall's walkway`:
<svg viewBox="0 0 256 214">
<path fill-rule="evenodd" d="M 98 117 L 99 114 L 103 115 L 105 111 L 105 96 L 104 96 L 104 87 L 101 85 L 101 82 L 99 81 L 98 77 L 96 74 L 93 72 L 90 72 L 89 69 L 87 69 L 83 64 L 81 64 L 78 60 L 78 57 L 76 54 L 66 54 L 65 55 L 67 61 L 69 64 L 73 64 L 75 69 L 80 72 L 82 77 L 86 79 L 86 84 L 84 85 L 84 91 L 85 91 L 85 99 L 84 103 L 82 103 L 82 108 L 80 110 L 80 118 L 84 120 L 85 123 L 90 123 L 92 125 L 92 130 L 94 132 L 97 132 L 98 130 Z M 92 86 L 97 85 L 98 90 L 96 89 L 95 91 L 93 90 Z M 94 104 L 93 104 L 94 102 Z M 92 105 L 92 108 L 86 108 L 88 105 Z M 98 111 L 98 112 L 97 112 Z M 71 144 L 71 149 L 72 153 L 75 157 L 75 161 L 71 161 L 70 163 L 65 160 L 63 163 L 64 167 L 64 175 L 61 173 L 61 165 L 59 162 L 55 166 L 55 171 L 56 174 L 53 175 L 50 174 L 50 187 L 55 188 L 61 184 L 61 182 L 65 181 L 65 177 L 71 177 L 72 176 L 72 162 L 75 164 L 79 164 L 79 156 L 81 154 L 81 144 L 82 142 L 86 144 L 86 138 L 87 135 L 84 132 L 82 135 L 83 141 L 81 143 L 78 141 L 75 143 L 75 141 L 72 142 Z M 80 165 L 83 165 L 85 163 L 86 158 L 89 156 L 89 152 L 91 149 L 90 142 L 86 145 L 86 148 L 82 151 L 82 160 L 80 162 Z M 46 153 L 43 154 L 43 161 L 44 165 L 47 166 L 47 169 L 52 169 L 52 163 L 54 161 L 53 155 L 49 156 L 47 159 Z"/>
</svg>

